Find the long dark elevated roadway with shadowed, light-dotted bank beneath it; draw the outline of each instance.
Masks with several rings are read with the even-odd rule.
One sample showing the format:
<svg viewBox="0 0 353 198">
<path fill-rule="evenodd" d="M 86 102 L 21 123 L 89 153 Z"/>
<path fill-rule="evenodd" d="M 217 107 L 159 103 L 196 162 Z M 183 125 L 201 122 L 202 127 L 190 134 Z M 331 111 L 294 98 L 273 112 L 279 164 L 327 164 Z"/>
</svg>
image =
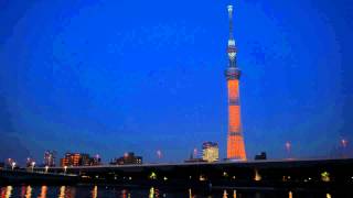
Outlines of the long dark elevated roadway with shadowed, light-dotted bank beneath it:
<svg viewBox="0 0 353 198">
<path fill-rule="evenodd" d="M 40 177 L 42 177 L 43 183 L 47 182 L 47 176 L 51 175 L 53 177 L 56 175 L 57 183 L 73 182 L 76 184 L 96 185 L 192 186 L 194 188 L 254 186 L 349 189 L 353 186 L 352 167 L 353 158 L 323 158 L 101 165 L 50 167 L 47 169 L 36 167 L 33 172 L 42 173 Z M 13 175 L 15 176 L 15 174 Z M 11 179 L 8 179 L 8 182 L 11 182 Z M 23 179 L 23 182 L 31 183 L 30 179 Z"/>
</svg>

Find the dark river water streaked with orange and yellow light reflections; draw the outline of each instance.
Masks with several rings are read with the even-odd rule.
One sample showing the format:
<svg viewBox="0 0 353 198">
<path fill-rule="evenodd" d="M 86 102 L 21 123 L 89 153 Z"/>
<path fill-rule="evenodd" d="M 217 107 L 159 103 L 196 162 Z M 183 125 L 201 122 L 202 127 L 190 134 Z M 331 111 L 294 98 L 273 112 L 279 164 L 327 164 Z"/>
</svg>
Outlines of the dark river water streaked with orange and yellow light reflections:
<svg viewBox="0 0 353 198">
<path fill-rule="evenodd" d="M 122 188 L 107 186 L 1 186 L 0 198 L 8 197 L 57 197 L 57 198 L 96 198 L 96 197 L 147 197 L 147 198 L 333 198 L 333 197 L 353 197 L 352 195 L 318 190 L 275 190 L 275 189 L 220 189 L 212 191 L 196 191 L 193 189 L 174 190 L 174 189 L 158 189 L 150 188 Z"/>
</svg>

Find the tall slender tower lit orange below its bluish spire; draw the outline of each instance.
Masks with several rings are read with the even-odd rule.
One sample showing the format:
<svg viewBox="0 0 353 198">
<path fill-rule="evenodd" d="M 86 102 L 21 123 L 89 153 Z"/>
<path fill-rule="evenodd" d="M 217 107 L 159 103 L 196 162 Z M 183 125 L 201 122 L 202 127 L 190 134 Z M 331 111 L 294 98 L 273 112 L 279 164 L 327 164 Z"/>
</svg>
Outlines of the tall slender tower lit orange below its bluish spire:
<svg viewBox="0 0 353 198">
<path fill-rule="evenodd" d="M 228 6 L 229 38 L 227 54 L 229 66 L 225 70 L 228 87 L 228 134 L 227 134 L 227 158 L 246 161 L 245 144 L 242 133 L 239 78 L 240 70 L 236 65 L 236 46 L 233 37 L 233 7 Z"/>
</svg>

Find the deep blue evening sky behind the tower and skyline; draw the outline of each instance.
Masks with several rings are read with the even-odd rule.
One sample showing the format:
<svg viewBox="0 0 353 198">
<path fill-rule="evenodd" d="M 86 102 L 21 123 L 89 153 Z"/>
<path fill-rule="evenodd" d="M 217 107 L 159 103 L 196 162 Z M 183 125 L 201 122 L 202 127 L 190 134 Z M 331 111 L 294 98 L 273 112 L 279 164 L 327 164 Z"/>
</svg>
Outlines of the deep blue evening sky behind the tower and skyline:
<svg viewBox="0 0 353 198">
<path fill-rule="evenodd" d="M 0 0 L 0 161 L 179 162 L 227 131 L 229 1 Z M 235 4 L 248 158 L 353 144 L 353 1 Z"/>
</svg>

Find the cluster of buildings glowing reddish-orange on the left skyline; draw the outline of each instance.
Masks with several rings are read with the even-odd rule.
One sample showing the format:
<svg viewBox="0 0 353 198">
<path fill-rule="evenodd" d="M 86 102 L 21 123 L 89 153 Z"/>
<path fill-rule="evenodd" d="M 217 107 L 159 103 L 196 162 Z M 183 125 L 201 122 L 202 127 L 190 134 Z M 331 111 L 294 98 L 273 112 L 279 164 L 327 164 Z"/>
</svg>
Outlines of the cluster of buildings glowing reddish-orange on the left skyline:
<svg viewBox="0 0 353 198">
<path fill-rule="evenodd" d="M 86 153 L 66 153 L 64 158 L 60 160 L 60 165 L 64 166 L 97 166 L 100 165 L 100 157 L 96 155 L 90 157 Z"/>
</svg>

